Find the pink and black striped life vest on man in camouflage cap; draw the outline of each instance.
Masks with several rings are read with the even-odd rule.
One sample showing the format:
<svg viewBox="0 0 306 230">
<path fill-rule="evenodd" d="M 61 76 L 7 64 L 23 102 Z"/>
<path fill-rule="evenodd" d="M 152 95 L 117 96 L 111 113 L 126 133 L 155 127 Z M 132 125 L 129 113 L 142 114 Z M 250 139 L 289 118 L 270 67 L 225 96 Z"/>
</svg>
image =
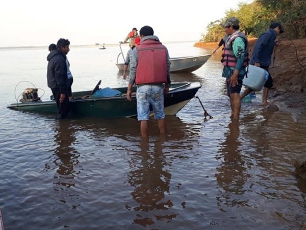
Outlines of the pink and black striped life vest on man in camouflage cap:
<svg viewBox="0 0 306 230">
<path fill-rule="evenodd" d="M 230 66 L 230 67 L 236 67 L 236 64 L 237 64 L 237 58 L 234 54 L 234 51 L 233 51 L 233 42 L 234 40 L 237 38 L 237 37 L 241 37 L 244 41 L 244 44 L 245 44 L 245 48 L 244 48 L 244 62 L 243 62 L 243 65 L 242 66 L 247 66 L 248 65 L 248 61 L 249 61 L 249 58 L 248 58 L 248 41 L 247 41 L 247 38 L 245 36 L 244 33 L 242 32 L 239 32 L 237 34 L 235 34 L 234 36 L 228 38 L 228 40 L 225 42 L 225 46 L 224 46 L 224 51 L 223 51 L 223 54 L 222 54 L 222 59 L 221 59 L 221 62 L 224 66 Z"/>
</svg>

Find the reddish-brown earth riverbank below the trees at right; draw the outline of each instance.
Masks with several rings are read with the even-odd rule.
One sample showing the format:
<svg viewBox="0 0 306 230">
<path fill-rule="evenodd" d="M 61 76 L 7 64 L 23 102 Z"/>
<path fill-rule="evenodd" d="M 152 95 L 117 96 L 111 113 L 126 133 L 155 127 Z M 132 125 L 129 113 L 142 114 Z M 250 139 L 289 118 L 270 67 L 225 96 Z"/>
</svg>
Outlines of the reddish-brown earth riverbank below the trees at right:
<svg viewBox="0 0 306 230">
<path fill-rule="evenodd" d="M 280 37 L 282 42 L 272 54 L 270 74 L 273 87 L 269 90 L 269 104 L 306 111 L 306 38 Z M 250 53 L 257 38 L 249 39 Z M 196 42 L 194 47 L 216 49 L 219 42 Z M 219 49 L 216 53 L 221 53 Z M 273 58 L 275 60 L 273 62 Z"/>
</svg>

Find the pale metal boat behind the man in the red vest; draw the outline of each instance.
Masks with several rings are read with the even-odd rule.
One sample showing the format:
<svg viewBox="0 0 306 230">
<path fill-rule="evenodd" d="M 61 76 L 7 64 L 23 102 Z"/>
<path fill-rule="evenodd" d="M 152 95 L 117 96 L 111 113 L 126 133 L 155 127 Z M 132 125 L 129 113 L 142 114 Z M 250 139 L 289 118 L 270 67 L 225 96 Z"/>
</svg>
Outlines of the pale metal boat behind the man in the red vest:
<svg viewBox="0 0 306 230">
<path fill-rule="evenodd" d="M 123 71 L 124 68 L 124 55 L 122 52 L 121 44 L 119 44 L 120 47 L 120 53 L 117 57 L 117 67 L 119 71 Z M 123 63 L 119 63 L 119 57 L 122 55 L 123 57 Z M 175 72 L 193 72 L 200 68 L 203 64 L 207 62 L 207 60 L 211 57 L 211 54 L 205 54 L 205 55 L 196 55 L 196 56 L 186 56 L 186 57 L 175 57 L 175 58 L 170 58 L 170 72 L 175 73 Z M 127 68 L 129 70 L 129 68 Z"/>
</svg>

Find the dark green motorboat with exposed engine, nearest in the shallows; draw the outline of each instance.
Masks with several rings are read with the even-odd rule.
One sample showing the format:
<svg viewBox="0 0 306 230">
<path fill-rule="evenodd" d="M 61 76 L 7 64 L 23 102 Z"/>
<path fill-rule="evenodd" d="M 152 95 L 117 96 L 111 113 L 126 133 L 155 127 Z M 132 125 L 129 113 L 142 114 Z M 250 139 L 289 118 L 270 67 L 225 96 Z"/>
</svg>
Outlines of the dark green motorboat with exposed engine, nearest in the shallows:
<svg viewBox="0 0 306 230">
<path fill-rule="evenodd" d="M 91 91 L 72 93 L 70 113 L 93 117 L 134 117 L 137 116 L 136 87 L 133 87 L 132 101 L 126 99 L 127 87 L 99 88 L 101 80 Z M 171 83 L 169 93 L 164 95 L 166 115 L 175 115 L 197 93 L 199 82 Z M 12 103 L 7 108 L 41 113 L 57 113 L 56 102 L 41 101 L 37 88 L 27 88 L 20 102 Z"/>
</svg>

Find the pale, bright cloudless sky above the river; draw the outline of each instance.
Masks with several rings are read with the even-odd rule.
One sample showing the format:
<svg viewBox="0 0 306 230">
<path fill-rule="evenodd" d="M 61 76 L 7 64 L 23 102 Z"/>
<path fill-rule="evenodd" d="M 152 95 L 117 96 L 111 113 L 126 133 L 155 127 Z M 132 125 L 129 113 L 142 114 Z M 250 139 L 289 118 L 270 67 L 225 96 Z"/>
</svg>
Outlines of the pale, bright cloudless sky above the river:
<svg viewBox="0 0 306 230">
<path fill-rule="evenodd" d="M 0 7 L 0 47 L 116 44 L 136 27 L 162 42 L 197 41 L 211 21 L 251 0 L 9 0 Z"/>
</svg>

